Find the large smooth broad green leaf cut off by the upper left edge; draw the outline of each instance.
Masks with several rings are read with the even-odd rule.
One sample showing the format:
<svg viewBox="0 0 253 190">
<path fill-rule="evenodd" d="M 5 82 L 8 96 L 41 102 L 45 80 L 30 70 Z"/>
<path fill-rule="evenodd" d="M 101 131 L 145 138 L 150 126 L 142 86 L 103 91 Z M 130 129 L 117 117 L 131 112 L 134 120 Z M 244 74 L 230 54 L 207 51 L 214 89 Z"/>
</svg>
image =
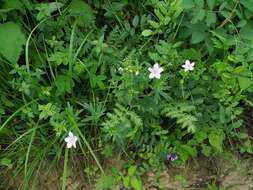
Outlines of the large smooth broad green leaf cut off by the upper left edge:
<svg viewBox="0 0 253 190">
<path fill-rule="evenodd" d="M 26 42 L 21 27 L 14 22 L 0 24 L 0 42 L 0 54 L 11 63 L 17 63 Z"/>
</svg>

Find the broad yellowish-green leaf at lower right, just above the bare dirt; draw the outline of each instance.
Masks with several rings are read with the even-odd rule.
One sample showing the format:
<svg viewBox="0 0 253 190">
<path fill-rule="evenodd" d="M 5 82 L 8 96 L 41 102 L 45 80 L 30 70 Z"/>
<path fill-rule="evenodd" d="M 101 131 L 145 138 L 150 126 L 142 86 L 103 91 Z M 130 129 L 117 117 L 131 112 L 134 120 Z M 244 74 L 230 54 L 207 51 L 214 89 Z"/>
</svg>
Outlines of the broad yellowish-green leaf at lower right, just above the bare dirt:
<svg viewBox="0 0 253 190">
<path fill-rule="evenodd" d="M 216 148 L 219 152 L 222 152 L 222 143 L 225 138 L 225 135 L 222 130 L 212 130 L 210 134 L 208 134 L 209 143 Z"/>
</svg>

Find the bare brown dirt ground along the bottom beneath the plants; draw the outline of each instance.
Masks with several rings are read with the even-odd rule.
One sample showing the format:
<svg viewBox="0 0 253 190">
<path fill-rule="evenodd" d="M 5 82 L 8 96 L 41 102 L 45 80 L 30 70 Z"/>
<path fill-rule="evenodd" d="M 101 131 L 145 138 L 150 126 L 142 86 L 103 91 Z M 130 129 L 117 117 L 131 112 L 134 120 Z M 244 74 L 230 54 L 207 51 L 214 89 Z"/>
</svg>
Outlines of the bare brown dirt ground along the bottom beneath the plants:
<svg viewBox="0 0 253 190">
<path fill-rule="evenodd" d="M 120 168 L 123 161 L 114 158 L 107 163 L 108 168 L 110 165 Z M 60 190 L 61 175 L 62 172 L 57 172 L 57 169 L 45 172 L 39 177 L 39 185 L 35 189 Z M 93 190 L 94 178 L 87 178 L 84 170 L 73 170 L 68 177 L 67 190 Z M 0 190 L 16 190 L 18 181 L 11 180 Z M 142 181 L 147 190 L 204 190 L 208 189 L 208 184 L 216 184 L 225 190 L 253 190 L 253 158 L 239 159 L 231 154 L 225 158 L 198 158 L 184 167 L 168 165 L 160 172 L 149 171 Z"/>
</svg>

